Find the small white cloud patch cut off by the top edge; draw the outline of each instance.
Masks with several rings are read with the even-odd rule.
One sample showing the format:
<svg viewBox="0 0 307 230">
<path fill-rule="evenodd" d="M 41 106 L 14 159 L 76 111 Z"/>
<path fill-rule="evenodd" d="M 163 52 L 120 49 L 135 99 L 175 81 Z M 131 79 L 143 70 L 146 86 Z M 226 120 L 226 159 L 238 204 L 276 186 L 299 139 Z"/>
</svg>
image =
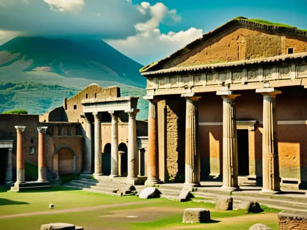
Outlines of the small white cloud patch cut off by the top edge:
<svg viewBox="0 0 307 230">
<path fill-rule="evenodd" d="M 49 4 L 50 10 L 78 12 L 83 9 L 83 0 L 43 0 Z"/>
</svg>

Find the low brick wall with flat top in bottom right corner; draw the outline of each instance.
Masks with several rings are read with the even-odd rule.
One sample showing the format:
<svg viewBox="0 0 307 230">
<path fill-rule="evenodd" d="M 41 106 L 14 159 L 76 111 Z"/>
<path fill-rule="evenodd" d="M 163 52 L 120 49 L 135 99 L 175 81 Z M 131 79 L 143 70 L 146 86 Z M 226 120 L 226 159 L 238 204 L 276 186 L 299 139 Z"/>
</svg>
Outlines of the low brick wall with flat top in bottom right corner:
<svg viewBox="0 0 307 230">
<path fill-rule="evenodd" d="M 307 212 L 280 212 L 279 230 L 307 230 Z"/>
</svg>

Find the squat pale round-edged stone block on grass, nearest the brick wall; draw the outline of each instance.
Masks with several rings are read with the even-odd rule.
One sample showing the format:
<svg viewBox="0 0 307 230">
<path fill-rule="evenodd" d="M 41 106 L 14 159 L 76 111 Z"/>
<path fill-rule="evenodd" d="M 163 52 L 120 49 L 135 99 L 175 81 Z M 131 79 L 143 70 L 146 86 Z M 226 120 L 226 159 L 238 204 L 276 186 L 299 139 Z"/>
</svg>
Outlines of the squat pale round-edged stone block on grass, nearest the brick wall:
<svg viewBox="0 0 307 230">
<path fill-rule="evenodd" d="M 183 213 L 182 223 L 208 223 L 210 220 L 210 211 L 208 209 L 188 208 Z"/>
</svg>

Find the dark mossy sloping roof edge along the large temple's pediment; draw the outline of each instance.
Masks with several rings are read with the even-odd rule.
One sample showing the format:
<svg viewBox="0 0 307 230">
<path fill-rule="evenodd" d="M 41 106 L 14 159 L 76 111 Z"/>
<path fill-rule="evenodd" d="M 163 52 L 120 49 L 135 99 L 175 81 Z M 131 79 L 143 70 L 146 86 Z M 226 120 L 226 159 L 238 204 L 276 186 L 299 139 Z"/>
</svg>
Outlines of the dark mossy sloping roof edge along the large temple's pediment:
<svg viewBox="0 0 307 230">
<path fill-rule="evenodd" d="M 287 25 L 287 24 L 282 24 L 282 23 L 278 23 L 278 22 L 271 22 L 271 21 L 266 21 L 266 20 L 257 19 L 257 18 L 248 19 L 247 17 L 236 17 L 234 19 L 231 19 L 227 23 L 221 25 L 220 27 L 218 27 L 218 28 L 216 28 L 216 29 L 214 29 L 214 30 L 212 30 L 208 33 L 205 33 L 199 39 L 192 41 L 190 44 L 188 44 L 184 48 L 181 48 L 180 50 L 172 53 L 168 57 L 161 59 L 157 62 L 153 62 L 153 63 L 151 63 L 147 66 L 144 66 L 142 69 L 140 69 L 140 72 L 148 71 L 149 69 L 152 69 L 152 67 L 156 66 L 152 70 L 152 71 L 155 71 L 155 70 L 157 70 L 158 65 L 159 66 L 165 65 L 169 61 L 176 59 L 176 58 L 188 53 L 192 49 L 194 49 L 194 48 L 198 47 L 199 45 L 203 44 L 204 42 L 208 41 L 210 38 L 217 36 L 218 34 L 222 33 L 223 30 L 226 30 L 227 28 L 235 26 L 235 25 L 247 25 L 247 26 L 251 25 L 251 26 L 260 27 L 262 29 L 274 30 L 274 31 L 280 32 L 280 33 L 286 33 L 286 32 L 292 33 L 295 36 L 303 36 L 303 37 L 307 38 L 307 29 L 297 29 L 297 27 L 290 26 L 290 25 Z"/>
</svg>

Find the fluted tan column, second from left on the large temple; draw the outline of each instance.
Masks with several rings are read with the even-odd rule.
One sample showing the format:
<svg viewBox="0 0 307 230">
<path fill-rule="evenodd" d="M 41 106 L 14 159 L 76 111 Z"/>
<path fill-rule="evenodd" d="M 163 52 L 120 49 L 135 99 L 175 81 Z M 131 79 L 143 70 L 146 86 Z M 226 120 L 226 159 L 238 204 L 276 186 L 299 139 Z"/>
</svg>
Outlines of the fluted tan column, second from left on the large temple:
<svg viewBox="0 0 307 230">
<path fill-rule="evenodd" d="M 200 186 L 200 153 L 198 144 L 198 99 L 192 95 L 182 95 L 186 99 L 185 117 L 185 183 L 184 186 Z"/>
</svg>

